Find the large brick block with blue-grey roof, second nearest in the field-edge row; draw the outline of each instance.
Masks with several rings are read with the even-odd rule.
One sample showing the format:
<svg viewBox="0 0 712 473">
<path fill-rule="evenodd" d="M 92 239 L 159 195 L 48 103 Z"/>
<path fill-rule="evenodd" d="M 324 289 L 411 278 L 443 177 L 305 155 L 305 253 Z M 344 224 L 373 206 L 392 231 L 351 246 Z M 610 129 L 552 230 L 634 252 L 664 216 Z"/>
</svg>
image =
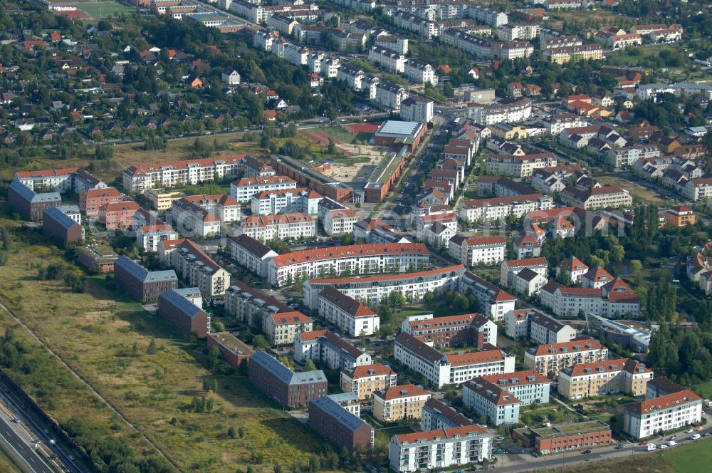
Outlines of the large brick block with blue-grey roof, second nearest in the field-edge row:
<svg viewBox="0 0 712 473">
<path fill-rule="evenodd" d="M 249 380 L 282 407 L 305 407 L 310 400 L 327 394 L 328 381 L 322 370 L 294 373 L 264 351 L 250 357 Z"/>
</svg>

